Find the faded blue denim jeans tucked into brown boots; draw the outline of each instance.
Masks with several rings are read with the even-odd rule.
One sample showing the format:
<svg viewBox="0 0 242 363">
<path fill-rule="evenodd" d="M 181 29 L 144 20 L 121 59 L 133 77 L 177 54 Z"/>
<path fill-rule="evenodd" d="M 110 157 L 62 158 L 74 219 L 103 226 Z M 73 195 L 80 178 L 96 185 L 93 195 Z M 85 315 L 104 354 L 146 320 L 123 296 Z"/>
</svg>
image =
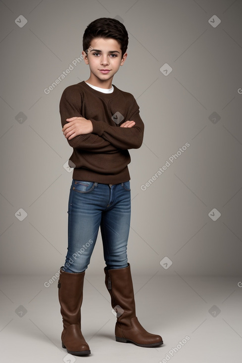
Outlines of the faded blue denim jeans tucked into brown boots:
<svg viewBox="0 0 242 363">
<path fill-rule="evenodd" d="M 101 184 L 73 180 L 68 203 L 68 252 L 64 271 L 84 272 L 100 227 L 103 255 L 108 269 L 128 266 L 130 182 Z"/>
</svg>

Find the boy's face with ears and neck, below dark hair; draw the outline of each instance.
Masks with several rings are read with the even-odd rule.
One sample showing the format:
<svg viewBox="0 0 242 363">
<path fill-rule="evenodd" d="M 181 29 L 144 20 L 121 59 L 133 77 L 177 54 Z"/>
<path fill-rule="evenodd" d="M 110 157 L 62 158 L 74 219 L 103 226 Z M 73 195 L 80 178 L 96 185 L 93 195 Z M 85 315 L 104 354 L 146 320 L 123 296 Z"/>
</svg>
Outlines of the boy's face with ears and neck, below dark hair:
<svg viewBox="0 0 242 363">
<path fill-rule="evenodd" d="M 91 72 L 87 82 L 93 86 L 111 88 L 113 76 L 124 64 L 127 53 L 122 56 L 119 43 L 112 38 L 95 38 L 91 46 L 93 50 L 88 54 L 82 52 Z"/>
</svg>

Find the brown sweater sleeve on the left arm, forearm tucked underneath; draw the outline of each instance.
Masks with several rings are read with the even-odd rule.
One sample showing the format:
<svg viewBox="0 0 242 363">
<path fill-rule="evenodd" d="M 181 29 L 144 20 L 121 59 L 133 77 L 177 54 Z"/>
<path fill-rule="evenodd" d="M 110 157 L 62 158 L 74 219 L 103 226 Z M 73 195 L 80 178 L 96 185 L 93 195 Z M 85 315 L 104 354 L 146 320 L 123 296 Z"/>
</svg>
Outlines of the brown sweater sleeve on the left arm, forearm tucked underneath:
<svg viewBox="0 0 242 363">
<path fill-rule="evenodd" d="M 62 128 L 71 117 L 84 117 L 81 115 L 82 96 L 80 91 L 73 86 L 67 87 L 61 96 L 59 104 L 59 112 Z M 73 148 L 79 148 L 94 153 L 110 152 L 117 150 L 108 140 L 97 134 L 86 134 L 73 137 L 68 140 L 68 143 Z"/>
</svg>

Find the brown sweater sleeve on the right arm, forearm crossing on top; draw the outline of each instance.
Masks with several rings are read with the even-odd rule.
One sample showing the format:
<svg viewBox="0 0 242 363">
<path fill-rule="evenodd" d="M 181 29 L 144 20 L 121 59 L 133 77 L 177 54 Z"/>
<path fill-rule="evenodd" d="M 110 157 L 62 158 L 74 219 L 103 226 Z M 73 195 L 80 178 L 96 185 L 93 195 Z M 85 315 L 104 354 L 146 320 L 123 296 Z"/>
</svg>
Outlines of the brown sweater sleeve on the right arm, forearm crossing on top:
<svg viewBox="0 0 242 363">
<path fill-rule="evenodd" d="M 104 140 L 109 141 L 118 149 L 138 149 L 143 142 L 144 123 L 140 117 L 139 106 L 134 97 L 131 106 L 129 107 L 126 121 L 127 120 L 135 121 L 135 126 L 131 128 L 122 128 L 108 125 L 103 121 L 91 119 L 93 123 L 93 134 L 101 136 Z"/>
</svg>

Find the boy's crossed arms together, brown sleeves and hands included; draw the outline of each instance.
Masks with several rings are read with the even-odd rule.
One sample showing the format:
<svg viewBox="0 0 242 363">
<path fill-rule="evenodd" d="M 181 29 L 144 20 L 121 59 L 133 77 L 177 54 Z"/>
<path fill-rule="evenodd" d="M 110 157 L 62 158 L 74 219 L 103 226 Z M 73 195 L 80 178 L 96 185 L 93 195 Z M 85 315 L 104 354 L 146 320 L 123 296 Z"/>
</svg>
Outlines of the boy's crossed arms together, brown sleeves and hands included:
<svg viewBox="0 0 242 363">
<path fill-rule="evenodd" d="M 79 111 L 82 102 L 80 93 L 73 94 L 72 90 L 70 102 L 68 91 L 67 88 L 62 94 L 60 114 L 62 131 L 70 146 L 79 147 L 83 150 L 92 150 L 93 152 L 105 152 L 116 149 L 136 149 L 142 145 L 144 123 L 134 97 L 126 117 L 130 121 L 126 121 L 120 127 L 117 127 L 103 121 L 87 120 L 82 117 Z"/>
</svg>

